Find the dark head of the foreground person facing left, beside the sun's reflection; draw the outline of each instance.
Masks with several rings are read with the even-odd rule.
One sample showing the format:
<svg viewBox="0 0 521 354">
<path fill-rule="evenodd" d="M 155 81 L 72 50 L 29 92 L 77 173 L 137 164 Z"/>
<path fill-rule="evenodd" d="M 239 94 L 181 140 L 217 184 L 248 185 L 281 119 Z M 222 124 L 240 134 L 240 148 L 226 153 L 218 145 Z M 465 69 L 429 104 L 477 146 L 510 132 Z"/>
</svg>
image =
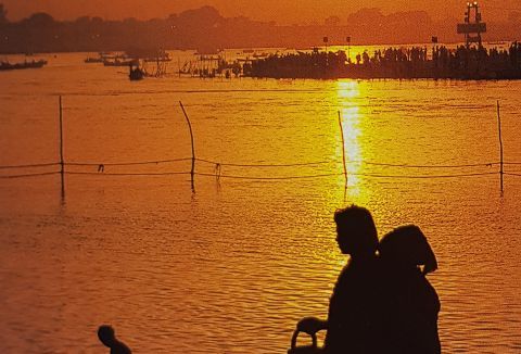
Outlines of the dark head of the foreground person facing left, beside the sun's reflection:
<svg viewBox="0 0 521 354">
<path fill-rule="evenodd" d="M 378 248 L 378 233 L 371 213 L 352 205 L 334 213 L 336 241 L 340 250 L 352 257 L 373 255 Z"/>
</svg>

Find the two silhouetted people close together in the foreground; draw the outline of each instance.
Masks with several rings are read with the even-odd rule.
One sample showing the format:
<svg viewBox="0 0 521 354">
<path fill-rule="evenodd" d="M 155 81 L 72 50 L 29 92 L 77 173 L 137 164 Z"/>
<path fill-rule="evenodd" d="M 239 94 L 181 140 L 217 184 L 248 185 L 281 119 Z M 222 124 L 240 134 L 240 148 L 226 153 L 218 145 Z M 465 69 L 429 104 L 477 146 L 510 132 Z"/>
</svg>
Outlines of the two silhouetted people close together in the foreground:
<svg viewBox="0 0 521 354">
<path fill-rule="evenodd" d="M 297 330 L 327 329 L 319 352 L 328 354 L 441 353 L 440 300 L 425 278 L 437 264 L 421 230 L 403 226 L 379 242 L 371 214 L 355 205 L 336 211 L 334 222 L 339 248 L 351 260 L 334 287 L 328 320 L 304 318 Z"/>
</svg>

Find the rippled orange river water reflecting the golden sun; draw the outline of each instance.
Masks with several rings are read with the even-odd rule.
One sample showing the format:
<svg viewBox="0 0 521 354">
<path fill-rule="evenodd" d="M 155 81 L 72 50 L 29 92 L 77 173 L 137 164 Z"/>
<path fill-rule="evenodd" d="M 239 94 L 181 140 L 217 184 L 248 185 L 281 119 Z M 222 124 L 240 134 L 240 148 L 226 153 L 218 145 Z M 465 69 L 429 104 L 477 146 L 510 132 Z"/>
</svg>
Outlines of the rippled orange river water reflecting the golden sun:
<svg viewBox="0 0 521 354">
<path fill-rule="evenodd" d="M 4 178 L 59 165 L 0 169 L 0 352 L 104 352 L 110 324 L 136 353 L 284 353 L 352 203 L 428 236 L 445 353 L 521 352 L 521 83 L 130 83 L 86 55 L 0 75 L 0 166 L 60 161 L 60 94 L 66 163 L 63 192 Z"/>
</svg>

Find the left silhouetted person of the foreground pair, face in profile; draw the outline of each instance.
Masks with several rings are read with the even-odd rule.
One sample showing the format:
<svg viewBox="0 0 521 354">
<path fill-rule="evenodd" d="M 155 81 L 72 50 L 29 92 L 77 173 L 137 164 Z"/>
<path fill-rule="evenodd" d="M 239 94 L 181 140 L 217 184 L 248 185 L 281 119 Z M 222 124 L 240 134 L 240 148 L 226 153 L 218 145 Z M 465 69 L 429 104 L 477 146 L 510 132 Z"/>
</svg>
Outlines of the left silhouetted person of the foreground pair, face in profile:
<svg viewBox="0 0 521 354">
<path fill-rule="evenodd" d="M 334 222 L 339 248 L 351 258 L 334 286 L 328 319 L 306 317 L 297 329 L 312 336 L 327 330 L 320 353 L 383 353 L 377 338 L 382 323 L 377 227 L 370 212 L 356 205 L 336 211 Z"/>
</svg>

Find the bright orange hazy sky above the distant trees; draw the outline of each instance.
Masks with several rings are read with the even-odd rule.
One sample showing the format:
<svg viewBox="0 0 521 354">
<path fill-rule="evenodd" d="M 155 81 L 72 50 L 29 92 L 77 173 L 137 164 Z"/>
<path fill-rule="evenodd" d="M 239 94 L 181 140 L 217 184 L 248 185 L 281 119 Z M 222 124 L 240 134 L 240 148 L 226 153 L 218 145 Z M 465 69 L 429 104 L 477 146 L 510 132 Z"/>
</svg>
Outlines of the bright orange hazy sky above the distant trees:
<svg viewBox="0 0 521 354">
<path fill-rule="evenodd" d="M 119 20 L 124 17 L 166 17 L 170 13 L 209 4 L 225 17 L 244 15 L 252 20 L 276 21 L 279 24 L 319 22 L 330 15 L 346 18 L 361 8 L 380 8 L 384 13 L 425 10 L 435 18 L 462 17 L 467 1 L 461 0 L 0 0 L 8 17 L 17 21 L 43 11 L 58 20 L 81 15 Z M 521 12 L 521 0 L 483 0 L 483 17 L 506 20 L 513 11 Z"/>
</svg>

